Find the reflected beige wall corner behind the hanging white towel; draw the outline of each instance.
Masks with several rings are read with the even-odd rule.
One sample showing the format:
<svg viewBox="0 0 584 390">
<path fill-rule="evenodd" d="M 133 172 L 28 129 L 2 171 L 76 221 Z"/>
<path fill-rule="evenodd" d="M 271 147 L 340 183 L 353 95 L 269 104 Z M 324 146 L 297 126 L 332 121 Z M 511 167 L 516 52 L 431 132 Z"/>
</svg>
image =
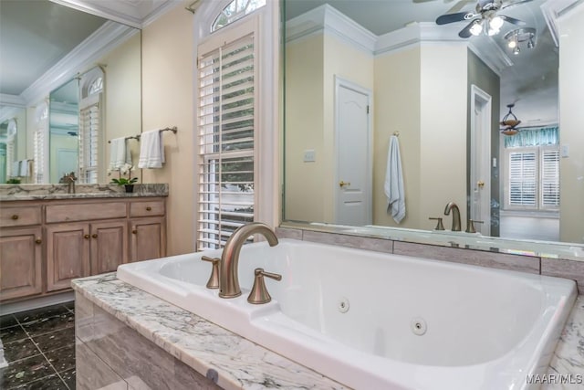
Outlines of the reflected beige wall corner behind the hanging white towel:
<svg viewBox="0 0 584 390">
<path fill-rule="evenodd" d="M 453 82 L 453 80 L 455 80 Z M 437 93 L 443 91 L 443 93 Z M 390 138 L 400 132 L 406 216 L 383 192 Z M 412 47 L 375 60 L 373 224 L 433 228 L 454 201 L 466 215 L 466 47 Z M 449 225 L 447 225 L 449 227 Z"/>
</svg>

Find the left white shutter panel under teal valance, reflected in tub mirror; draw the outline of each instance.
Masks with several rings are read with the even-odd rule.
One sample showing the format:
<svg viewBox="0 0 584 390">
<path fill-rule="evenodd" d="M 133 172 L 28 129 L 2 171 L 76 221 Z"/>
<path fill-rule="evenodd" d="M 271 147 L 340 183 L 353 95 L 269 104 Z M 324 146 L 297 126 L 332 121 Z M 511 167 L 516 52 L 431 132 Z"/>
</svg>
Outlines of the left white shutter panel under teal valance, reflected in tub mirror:
<svg viewBox="0 0 584 390">
<path fill-rule="evenodd" d="M 509 153 L 509 205 L 537 206 L 536 152 Z"/>
</svg>

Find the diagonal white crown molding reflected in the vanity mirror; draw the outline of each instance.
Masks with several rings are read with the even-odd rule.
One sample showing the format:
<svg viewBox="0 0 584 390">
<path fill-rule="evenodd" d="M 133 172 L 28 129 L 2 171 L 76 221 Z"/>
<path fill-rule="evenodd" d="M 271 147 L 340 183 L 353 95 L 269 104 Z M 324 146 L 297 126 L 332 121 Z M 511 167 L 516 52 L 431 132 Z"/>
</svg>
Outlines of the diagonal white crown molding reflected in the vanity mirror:
<svg viewBox="0 0 584 390">
<path fill-rule="evenodd" d="M 130 26 L 123 26 L 111 21 L 104 23 L 96 32 L 81 42 L 78 47 L 75 47 L 67 56 L 59 60 L 54 67 L 48 69 L 45 74 L 36 79 L 34 83 L 22 92 L 21 99 L 25 101 L 27 106 L 34 105 L 39 100 L 45 99 L 51 90 L 55 90 L 65 84 L 69 79 L 75 77 L 79 71 L 95 65 L 99 58 L 139 31 Z"/>
</svg>

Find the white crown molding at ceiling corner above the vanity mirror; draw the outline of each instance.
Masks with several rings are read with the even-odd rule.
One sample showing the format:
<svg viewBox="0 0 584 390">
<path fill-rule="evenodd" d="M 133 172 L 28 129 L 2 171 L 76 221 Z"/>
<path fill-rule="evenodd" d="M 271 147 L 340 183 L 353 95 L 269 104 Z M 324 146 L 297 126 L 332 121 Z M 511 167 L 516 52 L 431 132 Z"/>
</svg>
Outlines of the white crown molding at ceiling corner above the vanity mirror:
<svg viewBox="0 0 584 390">
<path fill-rule="evenodd" d="M 134 28 L 148 26 L 183 0 L 50 0 Z"/>
</svg>

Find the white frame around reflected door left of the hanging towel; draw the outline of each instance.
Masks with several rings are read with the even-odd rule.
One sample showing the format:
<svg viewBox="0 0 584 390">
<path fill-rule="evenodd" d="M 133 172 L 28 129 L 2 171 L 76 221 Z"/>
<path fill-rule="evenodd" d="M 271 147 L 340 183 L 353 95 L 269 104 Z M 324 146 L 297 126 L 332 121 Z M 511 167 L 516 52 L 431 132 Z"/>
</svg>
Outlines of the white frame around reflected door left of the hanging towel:
<svg viewBox="0 0 584 390">
<path fill-rule="evenodd" d="M 332 183 L 332 194 L 334 199 L 334 209 L 333 209 L 333 221 L 335 223 L 338 221 L 339 208 L 340 208 L 340 196 L 338 192 L 339 185 L 339 89 L 346 88 L 348 90 L 353 90 L 355 92 L 361 93 L 367 96 L 367 104 L 369 106 L 369 115 L 367 121 L 367 177 L 365 178 L 366 184 L 365 188 L 367 190 L 367 215 L 370 217 L 370 222 L 373 223 L 373 126 L 371 118 L 373 117 L 373 92 L 372 90 L 362 87 L 357 83 L 349 81 L 349 79 L 343 79 L 338 75 L 335 78 L 335 92 L 334 92 L 334 110 L 335 110 L 335 122 L 334 122 L 334 180 Z"/>
</svg>

